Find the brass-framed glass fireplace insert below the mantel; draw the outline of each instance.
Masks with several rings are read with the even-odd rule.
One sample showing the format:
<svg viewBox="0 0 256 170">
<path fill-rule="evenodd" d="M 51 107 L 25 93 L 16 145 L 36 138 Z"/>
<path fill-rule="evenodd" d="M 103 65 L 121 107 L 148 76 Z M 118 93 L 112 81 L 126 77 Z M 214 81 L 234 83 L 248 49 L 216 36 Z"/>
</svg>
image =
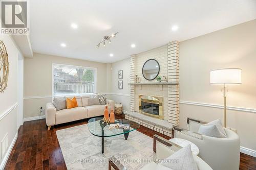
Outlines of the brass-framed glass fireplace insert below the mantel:
<svg viewBox="0 0 256 170">
<path fill-rule="evenodd" d="M 160 96 L 139 95 L 139 112 L 163 119 L 163 98 Z"/>
</svg>

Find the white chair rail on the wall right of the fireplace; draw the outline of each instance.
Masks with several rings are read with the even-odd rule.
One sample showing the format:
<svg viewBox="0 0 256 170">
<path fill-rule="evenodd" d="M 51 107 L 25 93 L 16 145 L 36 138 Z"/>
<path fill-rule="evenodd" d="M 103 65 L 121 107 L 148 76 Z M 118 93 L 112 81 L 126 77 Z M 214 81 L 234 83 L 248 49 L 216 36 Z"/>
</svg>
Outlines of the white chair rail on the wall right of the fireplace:
<svg viewBox="0 0 256 170">
<path fill-rule="evenodd" d="M 212 107 L 212 108 L 223 109 L 223 106 L 222 106 L 222 105 L 209 104 L 209 103 L 201 103 L 201 102 L 180 101 L 180 104 L 196 105 L 196 106 L 204 106 L 204 107 Z M 236 110 L 236 111 L 243 111 L 243 112 L 256 113 L 256 109 L 252 109 L 252 108 L 227 106 L 227 109 L 228 109 L 228 110 Z"/>
</svg>

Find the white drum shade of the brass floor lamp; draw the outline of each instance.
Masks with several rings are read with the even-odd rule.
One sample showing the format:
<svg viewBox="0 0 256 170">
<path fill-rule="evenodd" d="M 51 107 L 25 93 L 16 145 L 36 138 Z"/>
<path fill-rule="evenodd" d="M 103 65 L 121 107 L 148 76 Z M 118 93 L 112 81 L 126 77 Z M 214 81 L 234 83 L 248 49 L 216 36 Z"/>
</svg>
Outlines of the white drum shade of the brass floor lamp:
<svg viewBox="0 0 256 170">
<path fill-rule="evenodd" d="M 210 71 L 210 84 L 241 84 L 242 70 L 226 68 Z"/>
</svg>

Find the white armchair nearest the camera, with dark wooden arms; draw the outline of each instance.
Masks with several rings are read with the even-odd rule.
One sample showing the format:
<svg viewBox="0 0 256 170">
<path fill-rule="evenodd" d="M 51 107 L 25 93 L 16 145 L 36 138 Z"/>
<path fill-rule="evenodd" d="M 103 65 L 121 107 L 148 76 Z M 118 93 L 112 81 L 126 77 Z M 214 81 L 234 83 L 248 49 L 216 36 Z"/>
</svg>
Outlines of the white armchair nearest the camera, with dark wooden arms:
<svg viewBox="0 0 256 170">
<path fill-rule="evenodd" d="M 170 155 L 174 154 L 176 151 L 181 149 L 181 147 L 165 138 L 162 138 L 158 135 L 154 135 L 154 143 L 153 143 L 153 154 L 154 154 L 154 162 L 148 163 L 141 170 L 155 170 L 157 166 L 157 160 L 166 159 Z M 199 170 L 212 170 L 212 168 L 205 163 L 201 158 L 194 155 L 194 160 L 197 163 Z M 109 158 L 109 170 L 127 170 L 118 159 L 115 157 Z"/>
</svg>

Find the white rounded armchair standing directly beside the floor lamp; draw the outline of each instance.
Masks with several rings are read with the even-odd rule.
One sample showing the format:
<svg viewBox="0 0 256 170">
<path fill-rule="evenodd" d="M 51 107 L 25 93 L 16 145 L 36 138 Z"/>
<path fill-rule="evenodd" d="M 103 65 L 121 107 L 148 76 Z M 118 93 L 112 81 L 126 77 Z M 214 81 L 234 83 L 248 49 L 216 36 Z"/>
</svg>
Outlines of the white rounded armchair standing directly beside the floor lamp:
<svg viewBox="0 0 256 170">
<path fill-rule="evenodd" d="M 240 163 L 239 136 L 227 128 L 224 128 L 227 138 L 201 135 L 197 132 L 202 124 L 205 124 L 205 122 L 187 118 L 188 130 L 173 126 L 172 137 L 195 143 L 200 150 L 198 156 L 213 169 L 238 170 Z"/>
</svg>

